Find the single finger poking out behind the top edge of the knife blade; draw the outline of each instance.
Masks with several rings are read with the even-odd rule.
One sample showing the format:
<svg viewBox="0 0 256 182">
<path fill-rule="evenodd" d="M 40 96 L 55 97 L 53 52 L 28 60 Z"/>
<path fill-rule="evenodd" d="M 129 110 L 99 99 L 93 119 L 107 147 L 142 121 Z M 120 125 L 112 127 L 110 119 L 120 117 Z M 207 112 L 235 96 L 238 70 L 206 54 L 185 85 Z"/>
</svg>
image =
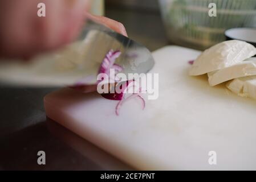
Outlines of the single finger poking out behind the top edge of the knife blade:
<svg viewBox="0 0 256 182">
<path fill-rule="evenodd" d="M 124 25 L 120 22 L 117 22 L 116 20 L 109 19 L 105 16 L 92 15 L 92 14 L 89 14 L 89 13 L 86 13 L 86 17 L 88 19 L 94 20 L 97 23 L 104 24 L 104 26 L 107 26 L 107 27 L 111 28 L 112 30 L 116 31 L 119 34 L 123 34 L 124 36 L 128 36 Z"/>
</svg>

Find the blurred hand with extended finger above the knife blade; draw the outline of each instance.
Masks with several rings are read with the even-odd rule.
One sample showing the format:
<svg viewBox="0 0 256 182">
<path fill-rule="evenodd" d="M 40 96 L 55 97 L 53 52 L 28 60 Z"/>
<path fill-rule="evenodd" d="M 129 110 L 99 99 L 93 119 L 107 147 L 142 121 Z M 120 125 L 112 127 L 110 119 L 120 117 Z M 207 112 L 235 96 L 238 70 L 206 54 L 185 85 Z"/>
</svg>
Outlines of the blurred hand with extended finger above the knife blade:
<svg viewBox="0 0 256 182">
<path fill-rule="evenodd" d="M 46 16 L 37 16 L 38 3 L 46 5 Z M 127 36 L 123 24 L 88 13 L 89 0 L 0 1 L 0 56 L 29 58 L 70 43 L 78 36 L 86 18 Z"/>
</svg>

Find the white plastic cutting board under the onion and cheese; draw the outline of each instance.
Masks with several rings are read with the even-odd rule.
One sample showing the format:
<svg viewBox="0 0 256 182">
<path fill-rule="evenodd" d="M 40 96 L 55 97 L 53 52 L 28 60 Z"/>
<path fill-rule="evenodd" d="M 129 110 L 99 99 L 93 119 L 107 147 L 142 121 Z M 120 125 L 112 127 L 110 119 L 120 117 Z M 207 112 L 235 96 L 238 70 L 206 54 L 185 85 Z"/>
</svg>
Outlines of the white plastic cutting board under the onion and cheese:
<svg viewBox="0 0 256 182">
<path fill-rule="evenodd" d="M 129 100 L 116 116 L 117 101 L 62 89 L 44 98 L 47 116 L 137 169 L 256 169 L 256 101 L 188 76 L 199 54 L 177 46 L 153 52 L 159 98 L 145 110 Z"/>
</svg>

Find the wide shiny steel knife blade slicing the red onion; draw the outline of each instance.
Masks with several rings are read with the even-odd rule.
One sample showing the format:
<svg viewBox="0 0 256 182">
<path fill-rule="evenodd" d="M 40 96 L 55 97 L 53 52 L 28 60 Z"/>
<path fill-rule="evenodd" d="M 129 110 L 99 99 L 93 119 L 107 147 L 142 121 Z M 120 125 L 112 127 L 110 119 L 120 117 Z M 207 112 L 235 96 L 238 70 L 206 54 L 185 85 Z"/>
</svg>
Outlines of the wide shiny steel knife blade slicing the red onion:
<svg viewBox="0 0 256 182">
<path fill-rule="evenodd" d="M 68 46 L 24 61 L 0 60 L 0 84 L 9 86 L 96 85 L 100 64 L 109 50 L 121 51 L 116 64 L 122 73 L 147 73 L 154 65 L 151 52 L 102 24 L 87 20 L 80 36 Z"/>
</svg>

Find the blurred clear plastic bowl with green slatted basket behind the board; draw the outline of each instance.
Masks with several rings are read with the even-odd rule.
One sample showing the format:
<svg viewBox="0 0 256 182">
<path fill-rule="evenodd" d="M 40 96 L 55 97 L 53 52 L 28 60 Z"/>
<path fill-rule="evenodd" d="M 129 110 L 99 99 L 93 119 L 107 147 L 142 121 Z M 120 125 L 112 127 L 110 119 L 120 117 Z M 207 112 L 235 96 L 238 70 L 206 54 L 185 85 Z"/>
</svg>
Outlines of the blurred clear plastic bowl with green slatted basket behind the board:
<svg viewBox="0 0 256 182">
<path fill-rule="evenodd" d="M 224 41 L 229 28 L 256 26 L 256 0 L 160 0 L 160 7 L 170 42 L 185 47 L 205 49 Z"/>
</svg>

